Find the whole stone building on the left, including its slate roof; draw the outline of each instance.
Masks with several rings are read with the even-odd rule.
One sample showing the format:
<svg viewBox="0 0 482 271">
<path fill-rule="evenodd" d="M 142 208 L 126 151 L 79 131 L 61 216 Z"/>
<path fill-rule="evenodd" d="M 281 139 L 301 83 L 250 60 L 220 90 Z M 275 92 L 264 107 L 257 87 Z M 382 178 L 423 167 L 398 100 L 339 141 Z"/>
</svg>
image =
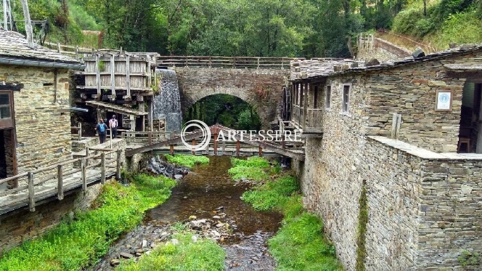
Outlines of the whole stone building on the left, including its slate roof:
<svg viewBox="0 0 482 271">
<path fill-rule="evenodd" d="M 82 67 L 0 29 L 0 179 L 71 158 L 69 70 Z"/>
</svg>

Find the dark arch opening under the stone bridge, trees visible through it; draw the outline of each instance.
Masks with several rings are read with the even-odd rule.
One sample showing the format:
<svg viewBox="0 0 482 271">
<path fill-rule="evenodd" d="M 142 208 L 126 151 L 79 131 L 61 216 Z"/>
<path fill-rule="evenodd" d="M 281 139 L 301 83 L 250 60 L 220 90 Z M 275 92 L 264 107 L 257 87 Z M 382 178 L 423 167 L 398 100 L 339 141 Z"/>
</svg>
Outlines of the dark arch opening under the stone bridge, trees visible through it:
<svg viewBox="0 0 482 271">
<path fill-rule="evenodd" d="M 231 129 L 259 130 L 258 108 L 230 94 L 212 94 L 195 101 L 184 111 L 184 123 L 198 119 L 208 126 L 219 123 Z"/>
</svg>

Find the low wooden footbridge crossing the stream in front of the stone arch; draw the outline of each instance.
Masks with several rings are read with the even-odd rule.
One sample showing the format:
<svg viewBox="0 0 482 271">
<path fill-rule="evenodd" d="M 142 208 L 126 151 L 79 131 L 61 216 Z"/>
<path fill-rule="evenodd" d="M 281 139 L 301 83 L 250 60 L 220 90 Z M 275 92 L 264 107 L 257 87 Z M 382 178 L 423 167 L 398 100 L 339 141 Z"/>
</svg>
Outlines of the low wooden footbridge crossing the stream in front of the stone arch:
<svg viewBox="0 0 482 271">
<path fill-rule="evenodd" d="M 236 147 L 234 152 L 231 152 L 231 154 L 235 156 L 241 156 L 241 143 L 244 143 L 244 144 L 248 144 L 253 147 L 256 147 L 258 149 L 259 156 L 262 156 L 264 153 L 268 151 L 271 153 L 276 153 L 279 155 L 284 155 L 284 156 L 296 158 L 299 160 L 305 159 L 304 148 L 303 148 L 304 143 L 302 141 L 301 142 L 284 141 L 283 137 L 281 137 L 281 140 L 279 141 L 272 141 L 272 142 L 260 141 L 259 138 L 257 137 L 255 138 L 256 141 L 242 141 L 240 131 L 230 129 L 219 124 L 211 126 L 210 131 L 211 131 L 212 139 L 216 139 L 220 131 L 223 131 L 224 133 L 226 133 L 226 135 L 228 134 L 228 132 L 231 132 L 231 133 L 234 132 L 234 138 L 236 139 L 236 142 L 233 142 L 233 143 L 236 144 Z M 196 144 L 196 139 L 202 136 L 203 136 L 203 132 L 201 130 L 196 130 L 194 132 L 185 134 L 184 139 L 186 141 L 192 141 L 192 144 Z M 160 132 L 126 132 L 126 133 L 123 133 L 123 137 L 128 142 L 128 145 L 131 145 L 131 149 L 128 149 L 125 152 L 126 156 L 152 152 L 155 150 L 160 150 L 165 147 L 169 147 L 170 153 L 173 154 L 174 146 L 182 144 L 181 136 L 174 135 L 174 133 L 171 133 L 171 132 L 165 132 L 163 134 Z M 132 143 L 134 143 L 134 146 L 132 146 Z M 139 144 L 141 146 L 139 146 Z M 145 145 L 142 146 L 142 144 L 145 144 Z M 225 154 L 224 151 L 219 152 L 220 151 L 219 142 L 213 140 L 212 146 L 213 146 L 213 151 L 212 151 L 213 155 Z M 207 150 L 207 152 L 198 151 L 197 153 L 193 152 L 193 154 L 206 155 L 206 154 L 210 154 L 210 152 L 209 150 Z"/>
</svg>

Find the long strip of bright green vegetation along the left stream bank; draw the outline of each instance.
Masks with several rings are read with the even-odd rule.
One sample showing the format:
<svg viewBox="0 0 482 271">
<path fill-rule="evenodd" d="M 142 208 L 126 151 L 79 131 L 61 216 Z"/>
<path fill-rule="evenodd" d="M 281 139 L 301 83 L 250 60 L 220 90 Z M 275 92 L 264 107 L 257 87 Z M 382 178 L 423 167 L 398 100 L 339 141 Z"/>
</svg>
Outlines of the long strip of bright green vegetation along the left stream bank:
<svg viewBox="0 0 482 271">
<path fill-rule="evenodd" d="M 78 212 L 38 239 L 6 252 L 0 271 L 80 270 L 104 255 L 120 234 L 134 228 L 144 211 L 163 203 L 175 181 L 137 175 L 125 187 L 106 184 L 94 202 L 96 209 Z"/>
</svg>

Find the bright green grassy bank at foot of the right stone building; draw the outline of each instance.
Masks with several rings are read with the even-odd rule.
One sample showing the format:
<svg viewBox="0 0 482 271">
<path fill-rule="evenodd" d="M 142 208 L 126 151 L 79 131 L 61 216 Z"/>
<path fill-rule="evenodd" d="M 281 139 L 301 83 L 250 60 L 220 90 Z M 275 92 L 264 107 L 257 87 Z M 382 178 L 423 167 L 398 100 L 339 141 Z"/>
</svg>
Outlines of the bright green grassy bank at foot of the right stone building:
<svg viewBox="0 0 482 271">
<path fill-rule="evenodd" d="M 268 240 L 277 270 L 342 270 L 335 247 L 323 236 L 322 221 L 303 210 L 298 191 L 295 177 L 281 174 L 243 194 L 243 200 L 256 210 L 278 210 L 284 215 L 281 229 Z"/>
</svg>

